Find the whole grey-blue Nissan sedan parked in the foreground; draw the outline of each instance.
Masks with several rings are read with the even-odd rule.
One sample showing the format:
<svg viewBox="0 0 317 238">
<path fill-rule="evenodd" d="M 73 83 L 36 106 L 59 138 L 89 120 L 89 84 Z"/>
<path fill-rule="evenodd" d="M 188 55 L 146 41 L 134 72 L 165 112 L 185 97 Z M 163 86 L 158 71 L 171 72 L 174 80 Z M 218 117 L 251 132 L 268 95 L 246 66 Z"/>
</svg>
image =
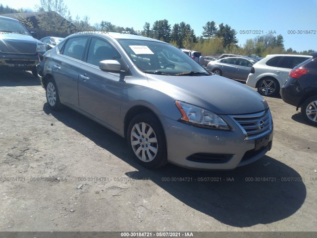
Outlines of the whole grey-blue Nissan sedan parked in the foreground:
<svg viewBox="0 0 317 238">
<path fill-rule="evenodd" d="M 176 47 L 120 33 L 77 33 L 37 65 L 52 110 L 67 106 L 127 139 L 147 168 L 230 170 L 271 149 L 264 98 L 212 75 Z"/>
</svg>

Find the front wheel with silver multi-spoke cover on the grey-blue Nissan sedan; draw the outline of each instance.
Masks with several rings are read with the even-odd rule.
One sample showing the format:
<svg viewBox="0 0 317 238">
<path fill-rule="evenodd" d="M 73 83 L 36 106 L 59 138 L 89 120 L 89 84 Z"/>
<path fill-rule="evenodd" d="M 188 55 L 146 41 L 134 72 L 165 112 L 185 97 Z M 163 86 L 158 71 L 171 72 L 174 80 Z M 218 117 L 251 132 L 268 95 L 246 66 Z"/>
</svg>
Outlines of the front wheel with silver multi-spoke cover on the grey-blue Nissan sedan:
<svg viewBox="0 0 317 238">
<path fill-rule="evenodd" d="M 167 164 L 164 131 L 154 114 L 135 116 L 128 126 L 127 140 L 134 158 L 144 167 L 156 169 Z"/>
</svg>

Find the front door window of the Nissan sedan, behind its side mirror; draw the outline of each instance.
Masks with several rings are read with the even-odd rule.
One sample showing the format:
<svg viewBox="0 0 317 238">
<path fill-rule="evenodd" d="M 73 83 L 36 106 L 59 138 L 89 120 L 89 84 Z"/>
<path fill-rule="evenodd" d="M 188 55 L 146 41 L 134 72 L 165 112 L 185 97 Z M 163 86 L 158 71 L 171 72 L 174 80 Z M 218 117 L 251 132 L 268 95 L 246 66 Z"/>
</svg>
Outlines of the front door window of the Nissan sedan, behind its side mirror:
<svg viewBox="0 0 317 238">
<path fill-rule="evenodd" d="M 99 66 L 102 60 L 117 60 L 121 63 L 120 54 L 105 40 L 92 38 L 87 56 L 87 63 Z"/>
</svg>

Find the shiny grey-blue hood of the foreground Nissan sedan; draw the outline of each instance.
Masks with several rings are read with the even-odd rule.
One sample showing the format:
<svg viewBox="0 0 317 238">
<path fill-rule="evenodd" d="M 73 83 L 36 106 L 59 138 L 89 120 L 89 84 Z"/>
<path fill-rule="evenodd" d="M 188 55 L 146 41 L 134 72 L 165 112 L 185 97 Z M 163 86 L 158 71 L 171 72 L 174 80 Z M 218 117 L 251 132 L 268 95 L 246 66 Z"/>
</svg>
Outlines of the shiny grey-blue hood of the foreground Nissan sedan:
<svg viewBox="0 0 317 238">
<path fill-rule="evenodd" d="M 150 87 L 175 100 L 184 101 L 216 114 L 250 114 L 265 110 L 264 98 L 234 80 L 212 76 L 164 76 L 147 74 Z"/>
</svg>

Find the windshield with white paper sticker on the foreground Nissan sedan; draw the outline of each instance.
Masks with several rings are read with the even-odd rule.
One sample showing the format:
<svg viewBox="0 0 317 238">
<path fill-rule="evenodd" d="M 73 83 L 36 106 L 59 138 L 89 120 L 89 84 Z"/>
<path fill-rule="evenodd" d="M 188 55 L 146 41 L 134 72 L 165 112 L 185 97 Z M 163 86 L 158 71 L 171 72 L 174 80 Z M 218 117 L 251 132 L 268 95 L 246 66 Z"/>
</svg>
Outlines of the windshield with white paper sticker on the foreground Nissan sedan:
<svg viewBox="0 0 317 238">
<path fill-rule="evenodd" d="M 130 59 L 145 73 L 160 75 L 211 75 L 195 60 L 169 44 L 119 39 Z"/>
</svg>

